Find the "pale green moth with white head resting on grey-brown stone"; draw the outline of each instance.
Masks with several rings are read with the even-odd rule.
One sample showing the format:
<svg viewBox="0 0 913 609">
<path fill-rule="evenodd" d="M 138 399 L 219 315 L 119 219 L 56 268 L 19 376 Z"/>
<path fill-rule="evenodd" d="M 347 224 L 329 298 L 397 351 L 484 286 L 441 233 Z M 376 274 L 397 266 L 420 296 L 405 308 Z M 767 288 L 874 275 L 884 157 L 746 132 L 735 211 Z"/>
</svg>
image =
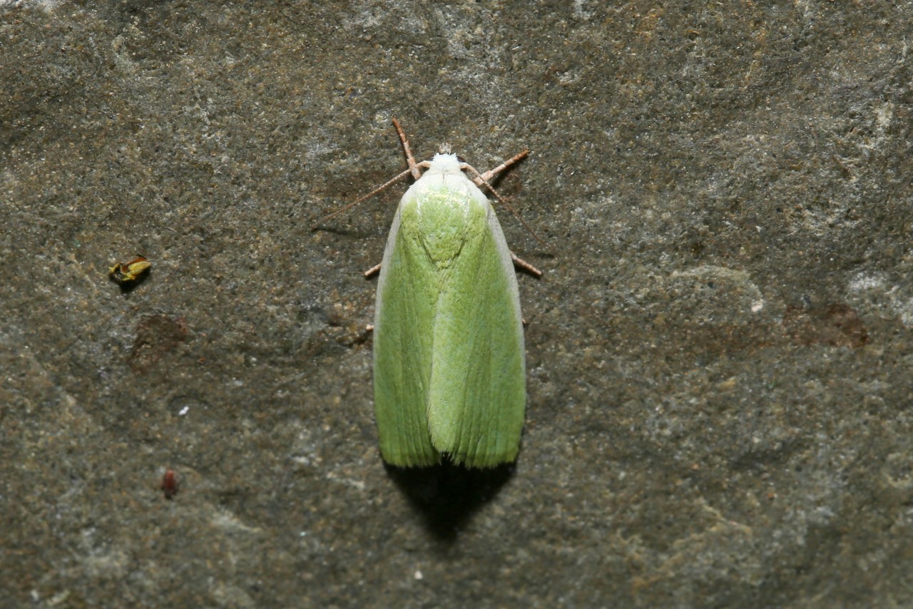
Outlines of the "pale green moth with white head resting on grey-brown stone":
<svg viewBox="0 0 913 609">
<path fill-rule="evenodd" d="M 513 265 L 540 272 L 511 254 L 477 184 L 501 200 L 488 179 L 528 151 L 481 174 L 446 147 L 415 163 L 395 119 L 394 126 L 409 170 L 362 197 L 409 173 L 415 177 L 396 210 L 377 285 L 374 412 L 381 454 L 404 467 L 434 465 L 444 455 L 467 467 L 511 462 L 526 407 Z"/>
</svg>

